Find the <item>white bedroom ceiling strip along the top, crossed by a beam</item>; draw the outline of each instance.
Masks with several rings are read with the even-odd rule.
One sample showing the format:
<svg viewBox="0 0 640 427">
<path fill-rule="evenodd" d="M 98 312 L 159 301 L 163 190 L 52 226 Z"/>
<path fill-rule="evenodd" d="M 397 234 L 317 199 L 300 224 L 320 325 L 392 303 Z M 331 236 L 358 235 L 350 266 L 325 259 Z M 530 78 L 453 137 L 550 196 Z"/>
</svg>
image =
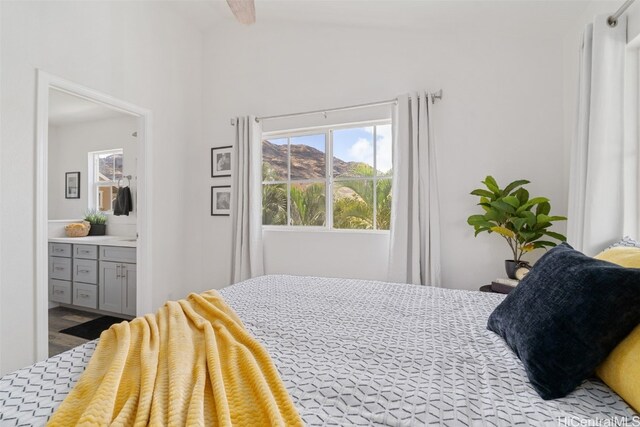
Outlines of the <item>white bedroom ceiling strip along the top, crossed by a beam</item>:
<svg viewBox="0 0 640 427">
<path fill-rule="evenodd" d="M 255 0 L 259 26 L 279 23 L 427 29 L 538 27 L 562 31 L 589 0 Z M 235 23 L 225 0 L 175 0 L 172 6 L 203 30 Z M 621 0 L 610 0 L 615 11 Z M 242 25 L 236 23 L 237 25 Z"/>
</svg>

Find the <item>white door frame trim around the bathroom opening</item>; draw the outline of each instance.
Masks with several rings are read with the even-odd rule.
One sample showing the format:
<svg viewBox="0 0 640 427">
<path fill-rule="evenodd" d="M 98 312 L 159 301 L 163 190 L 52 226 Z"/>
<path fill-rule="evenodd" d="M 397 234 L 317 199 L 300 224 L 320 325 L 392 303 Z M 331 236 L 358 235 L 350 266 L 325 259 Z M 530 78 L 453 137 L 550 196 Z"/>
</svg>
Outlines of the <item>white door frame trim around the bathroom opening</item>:
<svg viewBox="0 0 640 427">
<path fill-rule="evenodd" d="M 152 283 L 152 189 L 151 148 L 152 114 L 150 110 L 114 98 L 110 95 L 37 70 L 36 106 L 36 289 L 35 289 L 35 356 L 36 360 L 49 357 L 49 278 L 48 278 L 48 163 L 49 163 L 49 90 L 56 89 L 102 104 L 107 108 L 138 117 L 141 120 L 137 140 L 137 221 L 136 251 L 137 314 L 151 312 Z"/>
</svg>

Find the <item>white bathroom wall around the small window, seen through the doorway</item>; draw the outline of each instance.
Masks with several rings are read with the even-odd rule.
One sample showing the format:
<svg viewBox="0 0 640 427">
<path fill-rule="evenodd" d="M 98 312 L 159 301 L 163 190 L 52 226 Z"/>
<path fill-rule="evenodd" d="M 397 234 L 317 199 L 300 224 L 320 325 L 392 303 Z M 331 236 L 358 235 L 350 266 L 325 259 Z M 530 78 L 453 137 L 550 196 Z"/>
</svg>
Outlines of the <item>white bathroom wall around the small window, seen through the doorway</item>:
<svg viewBox="0 0 640 427">
<path fill-rule="evenodd" d="M 138 130 L 136 117 L 122 114 L 121 117 L 92 120 L 49 126 L 49 219 L 79 219 L 84 216 L 89 202 L 88 154 L 121 148 L 123 150 L 123 174 L 137 175 L 137 138 L 132 135 Z M 80 198 L 65 198 L 65 173 L 80 172 Z M 123 184 L 129 182 L 124 180 Z M 134 207 L 136 200 L 136 180 L 131 180 Z M 114 229 L 115 226 L 115 229 Z M 126 230 L 127 236 L 135 236 L 136 211 L 129 216 L 108 215 L 107 233 Z"/>
</svg>

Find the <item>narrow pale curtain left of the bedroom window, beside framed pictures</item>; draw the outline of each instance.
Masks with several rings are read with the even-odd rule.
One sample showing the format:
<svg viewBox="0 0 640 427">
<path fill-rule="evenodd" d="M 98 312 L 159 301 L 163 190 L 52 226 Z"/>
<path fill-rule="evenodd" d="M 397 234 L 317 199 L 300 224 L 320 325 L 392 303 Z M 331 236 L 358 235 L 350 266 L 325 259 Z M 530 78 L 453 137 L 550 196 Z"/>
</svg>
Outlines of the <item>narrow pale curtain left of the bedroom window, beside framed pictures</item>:
<svg viewBox="0 0 640 427">
<path fill-rule="evenodd" d="M 262 253 L 262 126 L 254 116 L 236 119 L 233 151 L 231 283 L 264 274 Z"/>
</svg>

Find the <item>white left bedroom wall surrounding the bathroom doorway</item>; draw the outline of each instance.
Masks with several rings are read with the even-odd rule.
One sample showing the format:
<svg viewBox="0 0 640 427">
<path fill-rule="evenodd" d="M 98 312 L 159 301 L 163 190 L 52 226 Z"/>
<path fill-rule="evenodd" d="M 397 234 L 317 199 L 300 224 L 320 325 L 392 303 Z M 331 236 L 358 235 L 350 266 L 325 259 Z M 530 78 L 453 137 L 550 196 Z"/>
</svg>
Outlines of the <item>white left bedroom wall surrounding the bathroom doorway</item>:
<svg viewBox="0 0 640 427">
<path fill-rule="evenodd" d="M 156 307 L 189 288 L 185 147 L 202 144 L 202 34 L 162 2 L 19 1 L 0 8 L 1 374 L 34 361 L 36 68 L 152 111 Z"/>
</svg>

